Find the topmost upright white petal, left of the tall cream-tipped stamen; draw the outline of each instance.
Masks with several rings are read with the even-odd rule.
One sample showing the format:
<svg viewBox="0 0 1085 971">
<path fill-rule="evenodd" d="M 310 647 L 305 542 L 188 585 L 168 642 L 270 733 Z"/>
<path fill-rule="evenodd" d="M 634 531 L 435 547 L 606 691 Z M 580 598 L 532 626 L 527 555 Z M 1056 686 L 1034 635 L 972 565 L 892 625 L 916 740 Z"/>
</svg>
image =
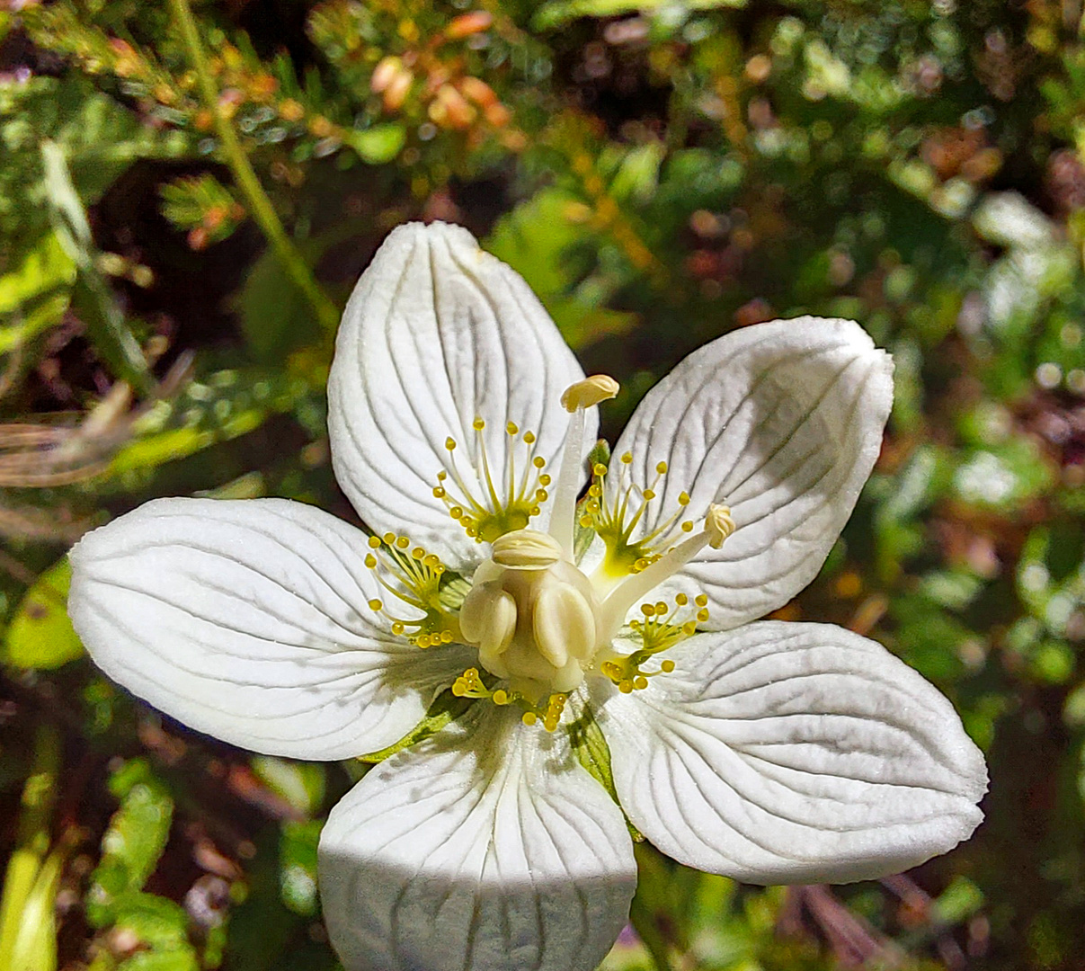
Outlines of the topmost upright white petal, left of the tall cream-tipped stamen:
<svg viewBox="0 0 1085 971">
<path fill-rule="evenodd" d="M 441 222 L 399 227 L 358 281 L 335 344 L 328 425 L 340 485 L 374 531 L 409 529 L 412 540 L 463 567 L 478 559 L 478 547 L 433 495 L 448 462 L 445 440 L 458 444 L 467 487 L 489 502 L 471 465 L 472 422 L 484 419 L 490 474 L 503 497 L 507 424 L 534 432 L 550 463 L 569 423 L 561 394 L 583 378 L 527 284 L 471 233 Z M 595 409 L 587 421 L 590 448 Z M 518 480 L 525 455 L 518 439 Z M 548 514 L 544 506 L 532 525 L 545 529 Z"/>
</svg>

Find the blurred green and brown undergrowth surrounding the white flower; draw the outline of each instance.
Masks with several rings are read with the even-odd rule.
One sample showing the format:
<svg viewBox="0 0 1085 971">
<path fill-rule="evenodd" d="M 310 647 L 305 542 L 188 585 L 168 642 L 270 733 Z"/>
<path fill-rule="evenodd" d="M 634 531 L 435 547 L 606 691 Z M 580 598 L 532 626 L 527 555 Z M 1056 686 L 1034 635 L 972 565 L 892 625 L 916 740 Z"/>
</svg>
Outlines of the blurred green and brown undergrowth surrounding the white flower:
<svg viewBox="0 0 1085 971">
<path fill-rule="evenodd" d="M 354 519 L 337 314 L 419 218 L 623 382 L 611 440 L 737 327 L 855 318 L 896 360 L 875 475 L 779 615 L 946 692 L 986 821 L 847 887 L 642 847 L 604 967 L 1082 968 L 1083 161 L 1081 0 L 0 3 L 0 971 L 335 967 L 316 841 L 354 770 L 133 702 L 64 554 L 163 495 Z"/>
</svg>

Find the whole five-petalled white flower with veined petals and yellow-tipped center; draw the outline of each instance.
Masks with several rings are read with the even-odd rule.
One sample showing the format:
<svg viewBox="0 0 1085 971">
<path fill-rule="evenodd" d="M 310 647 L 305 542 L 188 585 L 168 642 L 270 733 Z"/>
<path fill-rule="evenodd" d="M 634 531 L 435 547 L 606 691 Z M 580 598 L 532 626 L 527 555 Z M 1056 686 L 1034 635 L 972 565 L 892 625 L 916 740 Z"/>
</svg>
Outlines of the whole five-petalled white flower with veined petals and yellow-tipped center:
<svg viewBox="0 0 1085 971">
<path fill-rule="evenodd" d="M 720 337 L 577 507 L 616 384 L 468 232 L 407 226 L 329 384 L 373 536 L 296 502 L 159 499 L 73 551 L 72 617 L 136 694 L 281 756 L 392 746 L 452 687 L 465 713 L 331 813 L 332 942 L 349 969 L 590 969 L 634 891 L 625 817 L 755 883 L 891 873 L 979 822 L 983 758 L 934 688 L 839 627 L 751 623 L 851 514 L 891 372 L 850 321 Z"/>
</svg>

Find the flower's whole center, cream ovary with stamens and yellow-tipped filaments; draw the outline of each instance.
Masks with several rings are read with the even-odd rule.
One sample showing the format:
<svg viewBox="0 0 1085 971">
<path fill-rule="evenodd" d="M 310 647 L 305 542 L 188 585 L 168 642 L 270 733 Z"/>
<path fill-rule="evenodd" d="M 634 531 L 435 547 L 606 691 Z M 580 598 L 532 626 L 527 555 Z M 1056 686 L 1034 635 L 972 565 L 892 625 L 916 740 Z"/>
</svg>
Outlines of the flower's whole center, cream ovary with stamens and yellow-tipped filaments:
<svg viewBox="0 0 1085 971">
<path fill-rule="evenodd" d="M 378 599 L 369 602 L 392 621 L 393 634 L 420 648 L 458 641 L 477 649 L 482 670 L 464 670 L 451 686 L 452 694 L 497 705 L 515 702 L 525 708 L 525 724 L 541 720 L 548 731 L 558 727 L 569 692 L 589 674 L 628 693 L 674 670 L 673 661 L 656 661 L 656 655 L 709 619 L 707 598 L 701 595 L 691 602 L 678 593 L 673 605 L 646 601 L 705 546 L 718 548 L 735 531 L 726 506 L 710 506 L 697 529 L 694 520 L 686 518 L 689 495 L 681 493 L 668 518 L 651 531 L 641 527 L 638 535 L 667 465 L 659 462 L 655 478 L 641 487 L 629 476 L 631 456 L 618 459 L 610 487 L 610 471 L 596 465 L 577 508 L 585 411 L 615 394 L 617 382 L 598 374 L 566 389 L 561 404 L 570 412 L 569 430 L 552 478 L 542 471 L 546 460 L 536 453 L 536 436 L 521 433 L 512 422 L 505 429 L 507 449 L 497 467 L 486 452 L 483 419 L 473 423 L 475 442 L 467 465 L 457 464 L 457 444 L 447 440 L 448 460 L 437 472 L 433 494 L 469 536 L 490 545 L 470 587 L 406 536 L 373 536 L 366 555 L 378 583 L 410 614 L 393 614 Z M 531 520 L 547 500 L 549 532 L 532 529 Z M 607 547 L 590 577 L 574 562 L 577 523 Z M 640 617 L 627 623 L 638 604 Z M 620 635 L 621 644 L 615 644 Z"/>
</svg>

